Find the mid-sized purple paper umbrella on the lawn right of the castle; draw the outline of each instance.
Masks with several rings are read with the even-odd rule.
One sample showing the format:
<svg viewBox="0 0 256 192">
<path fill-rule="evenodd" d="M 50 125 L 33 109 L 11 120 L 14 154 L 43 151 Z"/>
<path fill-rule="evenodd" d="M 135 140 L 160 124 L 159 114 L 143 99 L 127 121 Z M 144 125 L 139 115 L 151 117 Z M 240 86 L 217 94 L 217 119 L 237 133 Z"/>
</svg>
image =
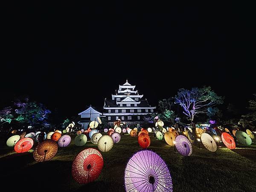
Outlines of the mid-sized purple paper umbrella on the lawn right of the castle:
<svg viewBox="0 0 256 192">
<path fill-rule="evenodd" d="M 189 156 L 192 154 L 192 145 L 184 135 L 178 135 L 176 137 L 175 146 L 183 156 Z"/>
</svg>

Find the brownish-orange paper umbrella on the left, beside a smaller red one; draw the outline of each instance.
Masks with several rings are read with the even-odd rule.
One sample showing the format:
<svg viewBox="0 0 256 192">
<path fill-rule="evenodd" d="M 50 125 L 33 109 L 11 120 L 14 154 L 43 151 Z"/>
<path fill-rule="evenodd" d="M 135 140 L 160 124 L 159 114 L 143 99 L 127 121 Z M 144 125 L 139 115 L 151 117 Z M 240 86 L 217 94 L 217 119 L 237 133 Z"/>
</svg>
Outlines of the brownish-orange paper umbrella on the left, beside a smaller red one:
<svg viewBox="0 0 256 192">
<path fill-rule="evenodd" d="M 33 157 L 38 162 L 51 160 L 58 151 L 58 144 L 52 140 L 40 143 L 33 152 Z"/>
</svg>

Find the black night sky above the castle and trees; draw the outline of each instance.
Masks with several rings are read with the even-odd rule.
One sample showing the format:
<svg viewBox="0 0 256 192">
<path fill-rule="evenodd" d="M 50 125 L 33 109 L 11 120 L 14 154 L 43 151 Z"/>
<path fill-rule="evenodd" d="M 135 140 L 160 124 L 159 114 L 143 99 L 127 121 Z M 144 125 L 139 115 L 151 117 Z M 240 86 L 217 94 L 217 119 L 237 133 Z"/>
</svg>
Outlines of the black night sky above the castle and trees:
<svg viewBox="0 0 256 192">
<path fill-rule="evenodd" d="M 209 85 L 244 110 L 255 86 L 252 5 L 9 5 L 1 23 L 0 106 L 26 94 L 76 115 L 124 84 L 151 105 Z"/>
</svg>

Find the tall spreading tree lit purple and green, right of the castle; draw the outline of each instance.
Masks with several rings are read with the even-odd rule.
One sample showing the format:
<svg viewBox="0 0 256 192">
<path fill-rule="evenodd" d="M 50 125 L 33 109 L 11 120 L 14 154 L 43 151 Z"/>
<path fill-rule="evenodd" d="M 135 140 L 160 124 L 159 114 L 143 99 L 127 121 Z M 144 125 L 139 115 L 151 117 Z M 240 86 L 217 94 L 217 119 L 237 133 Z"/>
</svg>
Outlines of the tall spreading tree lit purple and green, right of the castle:
<svg viewBox="0 0 256 192">
<path fill-rule="evenodd" d="M 175 104 L 183 108 L 183 113 L 191 121 L 193 134 L 195 134 L 195 116 L 200 114 L 211 114 L 217 111 L 214 106 L 223 103 L 223 97 L 218 96 L 211 87 L 192 88 L 191 90 L 179 89 L 175 96 Z"/>
</svg>

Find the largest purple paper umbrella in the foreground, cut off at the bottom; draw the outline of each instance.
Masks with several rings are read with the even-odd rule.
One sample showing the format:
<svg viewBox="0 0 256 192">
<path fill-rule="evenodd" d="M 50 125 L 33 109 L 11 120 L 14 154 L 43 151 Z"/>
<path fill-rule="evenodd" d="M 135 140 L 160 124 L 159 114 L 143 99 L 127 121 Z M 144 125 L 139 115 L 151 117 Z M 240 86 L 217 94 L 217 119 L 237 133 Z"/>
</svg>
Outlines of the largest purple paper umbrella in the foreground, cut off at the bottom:
<svg viewBox="0 0 256 192">
<path fill-rule="evenodd" d="M 172 192 L 172 177 L 164 160 L 155 152 L 136 152 L 125 168 L 125 191 Z"/>
</svg>

